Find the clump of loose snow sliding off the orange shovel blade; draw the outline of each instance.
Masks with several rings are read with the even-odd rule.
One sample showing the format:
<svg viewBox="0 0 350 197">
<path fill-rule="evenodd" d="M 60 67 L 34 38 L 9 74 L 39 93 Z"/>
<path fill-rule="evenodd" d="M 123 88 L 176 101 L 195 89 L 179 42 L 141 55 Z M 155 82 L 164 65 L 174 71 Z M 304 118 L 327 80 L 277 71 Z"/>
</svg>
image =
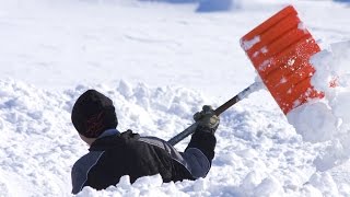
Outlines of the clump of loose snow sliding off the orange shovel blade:
<svg viewBox="0 0 350 197">
<path fill-rule="evenodd" d="M 311 62 L 316 68 L 312 84 L 325 99 L 295 108 L 288 118 L 304 140 L 329 142 L 324 155 L 315 160 L 316 167 L 324 171 L 350 155 L 350 42 L 332 44 Z"/>
</svg>

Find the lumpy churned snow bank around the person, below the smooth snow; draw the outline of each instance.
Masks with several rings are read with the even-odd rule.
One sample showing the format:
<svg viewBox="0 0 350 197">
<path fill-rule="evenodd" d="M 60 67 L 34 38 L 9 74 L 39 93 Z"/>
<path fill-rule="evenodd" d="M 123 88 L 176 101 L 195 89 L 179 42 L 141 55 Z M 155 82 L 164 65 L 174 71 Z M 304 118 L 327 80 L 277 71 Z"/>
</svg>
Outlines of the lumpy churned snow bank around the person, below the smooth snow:
<svg viewBox="0 0 350 197">
<path fill-rule="evenodd" d="M 19 81 L 0 81 L 2 194 L 70 194 L 71 166 L 88 151 L 70 123 L 70 112 L 77 97 L 90 88 L 78 85 L 63 92 L 48 92 Z M 131 128 L 143 136 L 163 139 L 189 126 L 192 114 L 203 104 L 217 103 L 195 91 L 175 86 L 150 88 L 144 83 L 131 85 L 120 81 L 115 86 L 96 84 L 94 88 L 113 99 L 119 130 Z M 315 173 L 312 161 L 318 147 L 304 143 L 277 105 L 261 106 L 257 101 L 264 97 L 270 95 L 258 91 L 222 114 L 215 158 L 206 178 L 165 184 L 160 175 L 154 175 L 141 177 L 131 185 L 129 177 L 124 176 L 116 186 L 100 192 L 85 187 L 78 196 L 329 194 L 323 179 L 304 185 Z M 182 141 L 177 149 L 184 150 L 187 142 L 188 139 Z M 339 189 L 331 190 L 331 194 L 338 193 Z"/>
</svg>

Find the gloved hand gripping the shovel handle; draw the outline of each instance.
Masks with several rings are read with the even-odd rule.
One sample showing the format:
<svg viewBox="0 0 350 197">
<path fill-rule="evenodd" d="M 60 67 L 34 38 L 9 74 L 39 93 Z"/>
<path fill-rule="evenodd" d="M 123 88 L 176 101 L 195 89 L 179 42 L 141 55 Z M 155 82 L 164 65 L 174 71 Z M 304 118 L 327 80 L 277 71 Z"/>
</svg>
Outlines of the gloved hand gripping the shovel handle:
<svg viewBox="0 0 350 197">
<path fill-rule="evenodd" d="M 198 123 L 198 129 L 214 134 L 219 127 L 220 118 L 214 114 L 210 105 L 205 105 L 201 112 L 194 115 L 194 119 Z"/>
</svg>

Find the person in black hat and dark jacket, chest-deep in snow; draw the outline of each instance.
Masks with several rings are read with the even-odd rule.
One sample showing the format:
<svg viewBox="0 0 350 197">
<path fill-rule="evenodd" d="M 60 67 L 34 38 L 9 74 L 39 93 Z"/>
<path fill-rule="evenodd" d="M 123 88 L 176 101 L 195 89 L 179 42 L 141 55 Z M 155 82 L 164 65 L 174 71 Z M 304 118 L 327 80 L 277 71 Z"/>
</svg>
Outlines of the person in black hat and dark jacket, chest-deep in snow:
<svg viewBox="0 0 350 197">
<path fill-rule="evenodd" d="M 110 111 L 114 111 L 112 101 L 92 90 L 80 96 L 73 107 L 73 125 L 90 144 L 90 152 L 73 165 L 73 194 L 84 186 L 107 188 L 116 185 L 124 175 L 129 175 L 131 183 L 154 174 L 161 174 L 164 182 L 176 182 L 205 177 L 209 172 L 214 157 L 213 132 L 219 118 L 214 117 L 217 123 L 212 128 L 199 127 L 197 130 L 203 131 L 196 131 L 185 152 L 178 152 L 155 137 L 140 137 L 131 130 L 119 134 L 115 129 L 116 116 L 105 116 L 113 115 Z"/>
</svg>

